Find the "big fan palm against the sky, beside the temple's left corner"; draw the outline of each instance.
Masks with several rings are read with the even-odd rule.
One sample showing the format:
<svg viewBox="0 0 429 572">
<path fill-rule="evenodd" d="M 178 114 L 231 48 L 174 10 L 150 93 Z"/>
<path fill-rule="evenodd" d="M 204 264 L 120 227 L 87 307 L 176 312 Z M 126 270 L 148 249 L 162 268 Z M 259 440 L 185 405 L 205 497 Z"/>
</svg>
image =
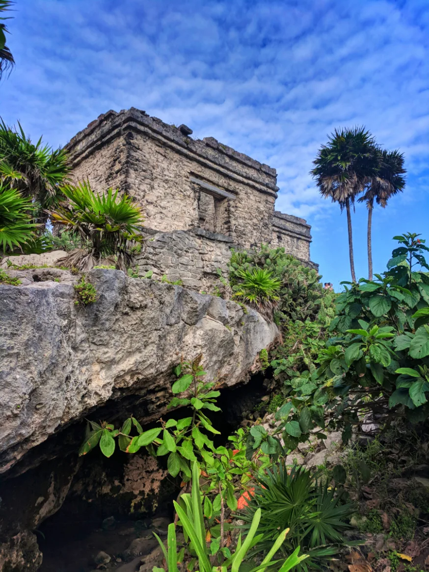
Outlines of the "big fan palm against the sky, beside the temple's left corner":
<svg viewBox="0 0 429 572">
<path fill-rule="evenodd" d="M 12 129 L 0 121 L 0 179 L 34 201 L 35 222 L 44 228 L 46 209 L 58 204 L 61 185 L 69 181 L 68 156 L 64 149 L 42 145 L 41 138 L 33 144 L 18 126 Z"/>
</svg>

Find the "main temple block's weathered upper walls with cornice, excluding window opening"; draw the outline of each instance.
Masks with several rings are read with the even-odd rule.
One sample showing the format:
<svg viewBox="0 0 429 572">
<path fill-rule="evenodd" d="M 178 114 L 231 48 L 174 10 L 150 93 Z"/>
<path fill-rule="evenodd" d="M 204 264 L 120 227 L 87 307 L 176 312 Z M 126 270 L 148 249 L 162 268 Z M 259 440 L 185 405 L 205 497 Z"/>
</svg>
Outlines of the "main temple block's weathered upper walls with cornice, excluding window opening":
<svg viewBox="0 0 429 572">
<path fill-rule="evenodd" d="M 243 247 L 271 240 L 275 169 L 211 137 L 193 140 L 132 108 L 100 116 L 67 149 L 76 179 L 89 178 L 96 190 L 118 185 L 135 196 L 149 228 L 200 227 L 205 193 L 215 197 L 220 218 L 206 230 L 228 234 Z"/>
</svg>

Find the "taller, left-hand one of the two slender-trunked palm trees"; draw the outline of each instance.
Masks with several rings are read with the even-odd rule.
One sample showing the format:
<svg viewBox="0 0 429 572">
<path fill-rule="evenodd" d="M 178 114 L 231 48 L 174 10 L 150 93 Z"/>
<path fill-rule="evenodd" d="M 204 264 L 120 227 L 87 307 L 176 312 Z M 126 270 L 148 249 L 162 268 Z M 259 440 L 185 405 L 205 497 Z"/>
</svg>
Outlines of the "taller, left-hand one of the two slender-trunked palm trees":
<svg viewBox="0 0 429 572">
<path fill-rule="evenodd" d="M 320 194 L 347 213 L 348 249 L 352 281 L 356 282 L 350 207 L 378 168 L 374 138 L 364 127 L 335 129 L 322 145 L 310 171 Z"/>
</svg>

